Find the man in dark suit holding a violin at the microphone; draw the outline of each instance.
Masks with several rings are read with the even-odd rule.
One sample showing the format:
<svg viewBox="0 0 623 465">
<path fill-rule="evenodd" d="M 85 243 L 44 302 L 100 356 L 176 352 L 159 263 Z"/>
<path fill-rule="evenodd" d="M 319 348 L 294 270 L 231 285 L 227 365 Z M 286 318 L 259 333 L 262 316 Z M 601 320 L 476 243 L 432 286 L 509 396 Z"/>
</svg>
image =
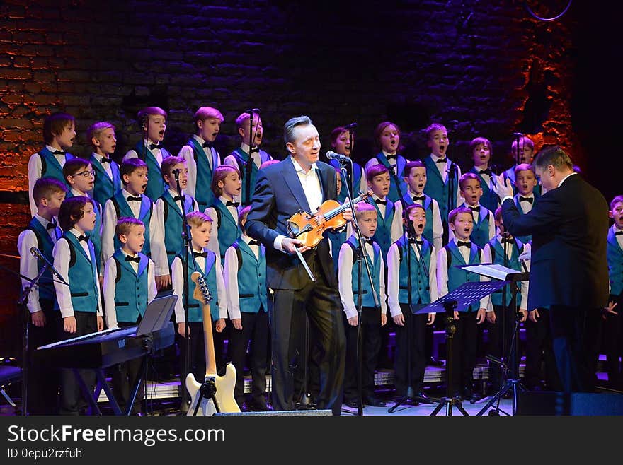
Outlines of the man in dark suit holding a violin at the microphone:
<svg viewBox="0 0 623 465">
<path fill-rule="evenodd" d="M 290 156 L 258 172 L 251 211 L 246 220 L 248 235 L 266 246 L 267 284 L 273 290 L 270 315 L 273 343 L 272 392 L 275 410 L 292 410 L 297 346 L 304 331 L 304 314 L 319 337 L 321 386 L 318 408 L 339 415 L 345 365 L 345 336 L 338 283 L 329 254 L 328 240 L 314 249 L 288 235 L 287 221 L 299 210 L 313 213 L 328 199 L 337 199 L 336 170 L 318 161 L 320 139 L 309 117 L 288 120 L 284 139 Z M 352 218 L 350 208 L 344 212 Z M 294 253 L 303 257 L 316 278 L 312 282 Z"/>
</svg>

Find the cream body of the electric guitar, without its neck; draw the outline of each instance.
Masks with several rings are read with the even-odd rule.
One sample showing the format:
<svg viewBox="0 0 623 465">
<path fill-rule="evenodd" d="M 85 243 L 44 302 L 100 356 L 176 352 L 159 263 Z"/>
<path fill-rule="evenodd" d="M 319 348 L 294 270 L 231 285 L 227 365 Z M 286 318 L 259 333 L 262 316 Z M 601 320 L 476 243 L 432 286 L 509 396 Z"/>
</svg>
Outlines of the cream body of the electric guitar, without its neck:
<svg viewBox="0 0 623 465">
<path fill-rule="evenodd" d="M 217 399 L 217 404 L 219 405 L 219 411 L 221 412 L 239 412 L 240 408 L 236 403 L 236 399 L 234 399 L 234 387 L 236 386 L 236 367 L 231 363 L 227 364 L 225 367 L 225 375 L 211 375 L 210 379 L 213 379 L 216 386 L 215 398 Z M 187 416 L 193 416 L 195 414 L 195 409 L 197 408 L 197 402 L 201 395 L 200 388 L 202 382 L 198 382 L 195 379 L 195 375 L 193 373 L 188 373 L 186 377 L 186 389 L 188 389 L 188 393 L 190 394 L 190 408 L 188 408 Z M 197 415 L 206 416 L 206 415 L 214 415 L 217 413 L 217 409 L 212 402 L 212 399 L 208 399 L 207 397 L 202 397 L 201 402 L 199 404 L 199 408 L 197 411 Z"/>
</svg>

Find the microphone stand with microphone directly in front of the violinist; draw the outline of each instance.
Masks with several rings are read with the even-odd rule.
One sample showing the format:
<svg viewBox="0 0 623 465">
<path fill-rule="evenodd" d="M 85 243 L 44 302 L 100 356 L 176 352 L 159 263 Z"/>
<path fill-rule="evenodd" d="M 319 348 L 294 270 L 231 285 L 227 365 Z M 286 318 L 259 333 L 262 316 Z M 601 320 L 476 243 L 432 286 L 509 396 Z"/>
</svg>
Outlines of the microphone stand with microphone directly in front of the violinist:
<svg viewBox="0 0 623 465">
<path fill-rule="evenodd" d="M 352 147 L 352 146 L 351 146 Z M 345 179 L 347 172 L 346 172 L 346 163 L 350 163 L 350 168 L 351 171 L 353 169 L 353 160 L 351 160 L 350 158 L 339 158 L 338 161 L 340 162 L 340 172 L 343 175 L 343 177 Z M 375 284 L 374 281 L 372 280 L 372 271 L 370 271 L 370 263 L 368 262 L 367 258 L 365 260 L 362 260 L 363 257 L 367 257 L 367 253 L 365 252 L 365 246 L 363 244 L 363 239 L 361 237 L 361 230 L 359 229 L 359 223 L 357 222 L 357 216 L 355 216 L 355 204 L 353 204 L 353 194 L 352 192 L 350 192 L 350 187 L 348 186 L 348 182 L 345 183 L 345 187 L 346 187 L 346 195 L 348 196 L 348 202 L 350 203 L 350 210 L 353 212 L 353 225 L 355 225 L 355 231 L 357 231 L 357 239 L 358 239 L 358 249 L 356 251 L 357 253 L 357 266 L 358 266 L 358 286 L 359 286 L 359 295 L 358 295 L 358 299 L 357 299 L 357 319 L 358 319 L 358 325 L 357 325 L 357 351 L 356 351 L 356 357 L 355 359 L 357 360 L 357 394 L 358 394 L 358 401 L 357 401 L 357 414 L 358 416 L 362 416 L 363 415 L 363 393 L 362 393 L 362 351 L 361 351 L 361 344 L 362 344 L 362 330 L 361 330 L 361 326 L 362 326 L 362 322 L 361 322 L 361 315 L 362 315 L 362 307 L 363 307 L 363 292 L 362 292 L 362 288 L 361 288 L 361 283 L 362 283 L 362 278 L 361 278 L 361 271 L 362 271 L 362 261 L 365 264 L 365 271 L 367 273 L 367 278 L 368 281 L 370 281 L 370 289 L 372 289 L 372 298 L 374 298 L 375 300 L 375 309 L 380 309 L 381 308 L 381 304 L 379 301 L 379 296 L 377 295 L 377 290 L 375 289 Z M 349 412 L 350 413 L 350 412 Z"/>
</svg>

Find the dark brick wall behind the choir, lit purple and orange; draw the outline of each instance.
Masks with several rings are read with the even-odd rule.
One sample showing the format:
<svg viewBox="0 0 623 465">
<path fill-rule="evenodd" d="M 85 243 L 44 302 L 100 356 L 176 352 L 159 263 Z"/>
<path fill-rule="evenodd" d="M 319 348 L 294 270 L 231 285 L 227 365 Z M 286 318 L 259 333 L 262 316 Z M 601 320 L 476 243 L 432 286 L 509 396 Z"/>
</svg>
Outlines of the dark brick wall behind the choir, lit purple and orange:
<svg viewBox="0 0 623 465">
<path fill-rule="evenodd" d="M 282 124 L 308 114 L 323 153 L 334 126 L 358 122 L 354 158 L 375 152 L 372 130 L 399 124 L 404 154 L 427 154 L 421 130 L 442 122 L 450 155 L 469 168 L 475 136 L 493 142 L 498 169 L 512 164 L 512 134 L 559 143 L 608 199 L 620 193 L 618 134 L 621 53 L 615 4 L 593 11 L 567 0 L 479 1 L 86 1 L 0 4 L 0 253 L 16 255 L 28 222 L 27 163 L 42 143 L 42 120 L 76 117 L 72 150 L 88 155 L 84 132 L 117 128 L 115 158 L 139 139 L 136 112 L 168 111 L 173 153 L 193 130 L 197 107 L 225 117 L 222 156 L 239 143 L 234 120 L 258 107 L 264 148 L 285 156 Z M 614 9 L 613 9 L 614 8 Z M 623 189 L 621 189 L 623 190 Z M 13 271 L 18 261 L 1 257 Z M 0 355 L 16 350 L 17 278 L 0 278 Z"/>
</svg>

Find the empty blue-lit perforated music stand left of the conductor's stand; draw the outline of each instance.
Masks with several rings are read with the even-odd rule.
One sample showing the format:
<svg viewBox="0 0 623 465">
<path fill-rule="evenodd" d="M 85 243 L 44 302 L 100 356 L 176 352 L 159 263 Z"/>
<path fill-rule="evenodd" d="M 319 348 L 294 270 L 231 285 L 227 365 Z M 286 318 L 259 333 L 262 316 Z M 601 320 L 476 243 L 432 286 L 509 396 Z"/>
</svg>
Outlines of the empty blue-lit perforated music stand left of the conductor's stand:
<svg viewBox="0 0 623 465">
<path fill-rule="evenodd" d="M 446 395 L 439 400 L 438 406 L 435 407 L 431 416 L 437 415 L 443 407 L 445 414 L 452 415 L 452 407 L 455 406 L 465 416 L 469 415 L 463 408 L 462 400 L 455 396 L 452 392 L 452 343 L 454 340 L 457 327 L 455 326 L 455 310 L 465 310 L 474 302 L 485 298 L 487 295 L 496 292 L 502 288 L 508 281 L 468 281 L 447 293 L 435 302 L 416 310 L 414 313 L 440 313 L 445 312 L 445 340 L 446 340 Z"/>
</svg>

